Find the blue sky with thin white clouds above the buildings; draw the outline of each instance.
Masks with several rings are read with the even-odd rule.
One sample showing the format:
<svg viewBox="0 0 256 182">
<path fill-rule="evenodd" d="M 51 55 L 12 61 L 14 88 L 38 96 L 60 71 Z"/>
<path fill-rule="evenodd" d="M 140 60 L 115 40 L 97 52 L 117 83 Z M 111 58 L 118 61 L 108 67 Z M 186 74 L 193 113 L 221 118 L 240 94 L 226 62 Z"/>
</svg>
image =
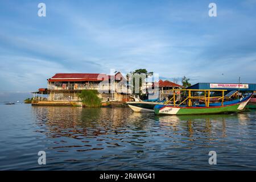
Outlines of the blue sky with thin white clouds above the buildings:
<svg viewBox="0 0 256 182">
<path fill-rule="evenodd" d="M 55 73 L 112 68 L 256 82 L 256 0 L 1 1 L 0 22 L 0 98 L 46 87 Z"/>
</svg>

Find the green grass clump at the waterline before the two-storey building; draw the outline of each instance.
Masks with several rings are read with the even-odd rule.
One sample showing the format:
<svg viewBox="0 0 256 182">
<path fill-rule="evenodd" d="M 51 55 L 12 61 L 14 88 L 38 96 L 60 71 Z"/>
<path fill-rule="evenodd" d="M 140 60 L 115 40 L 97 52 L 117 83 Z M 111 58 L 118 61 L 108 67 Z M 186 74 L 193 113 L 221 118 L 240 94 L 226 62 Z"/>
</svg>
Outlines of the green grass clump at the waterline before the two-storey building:
<svg viewBox="0 0 256 182">
<path fill-rule="evenodd" d="M 79 98 L 82 100 L 82 105 L 86 107 L 100 107 L 101 99 L 98 97 L 97 90 L 82 90 L 78 94 Z"/>
</svg>

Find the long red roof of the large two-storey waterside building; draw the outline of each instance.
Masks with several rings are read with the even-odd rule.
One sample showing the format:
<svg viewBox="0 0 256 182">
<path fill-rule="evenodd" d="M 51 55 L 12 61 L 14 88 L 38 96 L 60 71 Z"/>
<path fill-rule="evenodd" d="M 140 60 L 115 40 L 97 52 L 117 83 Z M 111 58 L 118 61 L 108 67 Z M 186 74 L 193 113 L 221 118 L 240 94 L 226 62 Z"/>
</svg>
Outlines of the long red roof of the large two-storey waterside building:
<svg viewBox="0 0 256 182">
<path fill-rule="evenodd" d="M 48 81 L 102 81 L 108 75 L 100 73 L 56 73 Z"/>
</svg>

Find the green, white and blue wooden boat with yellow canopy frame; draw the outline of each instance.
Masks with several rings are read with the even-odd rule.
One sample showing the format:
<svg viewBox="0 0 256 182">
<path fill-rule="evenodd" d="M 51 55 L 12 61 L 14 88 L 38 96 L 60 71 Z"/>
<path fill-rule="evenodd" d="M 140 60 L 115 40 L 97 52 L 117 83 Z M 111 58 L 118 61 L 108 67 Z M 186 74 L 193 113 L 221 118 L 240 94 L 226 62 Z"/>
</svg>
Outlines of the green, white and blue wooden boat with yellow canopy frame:
<svg viewBox="0 0 256 182">
<path fill-rule="evenodd" d="M 183 115 L 183 114 L 217 114 L 217 113 L 234 113 L 241 111 L 245 108 L 247 102 L 253 94 L 246 96 L 245 98 L 240 98 L 233 101 L 224 101 L 224 92 L 226 90 L 193 90 L 184 89 L 183 91 L 188 92 L 188 97 L 185 98 L 183 102 L 179 105 L 156 105 L 154 107 L 155 114 L 172 114 L 172 115 Z M 204 96 L 192 96 L 192 92 L 203 92 Z M 211 92 L 222 92 L 222 96 L 211 97 Z M 174 91 L 175 93 L 175 91 Z M 203 99 L 204 98 L 204 99 Z M 210 98 L 219 98 L 221 102 L 210 104 Z M 175 99 L 175 94 L 174 94 Z M 203 99 L 205 101 L 204 105 L 192 105 L 192 100 Z M 181 105 L 185 101 L 187 105 Z M 174 100 L 175 103 L 175 100 Z"/>
</svg>

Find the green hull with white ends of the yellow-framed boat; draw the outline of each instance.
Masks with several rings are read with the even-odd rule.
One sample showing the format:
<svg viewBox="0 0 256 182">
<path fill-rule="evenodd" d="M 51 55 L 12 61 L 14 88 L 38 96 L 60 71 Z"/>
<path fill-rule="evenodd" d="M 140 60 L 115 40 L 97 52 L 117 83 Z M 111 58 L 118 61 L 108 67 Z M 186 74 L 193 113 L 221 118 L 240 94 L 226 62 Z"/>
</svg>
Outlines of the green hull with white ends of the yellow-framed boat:
<svg viewBox="0 0 256 182">
<path fill-rule="evenodd" d="M 250 97 L 236 104 L 211 107 L 175 107 L 169 105 L 156 105 L 154 107 L 154 111 L 155 114 L 171 115 L 234 113 L 243 110 L 249 100 Z"/>
</svg>

